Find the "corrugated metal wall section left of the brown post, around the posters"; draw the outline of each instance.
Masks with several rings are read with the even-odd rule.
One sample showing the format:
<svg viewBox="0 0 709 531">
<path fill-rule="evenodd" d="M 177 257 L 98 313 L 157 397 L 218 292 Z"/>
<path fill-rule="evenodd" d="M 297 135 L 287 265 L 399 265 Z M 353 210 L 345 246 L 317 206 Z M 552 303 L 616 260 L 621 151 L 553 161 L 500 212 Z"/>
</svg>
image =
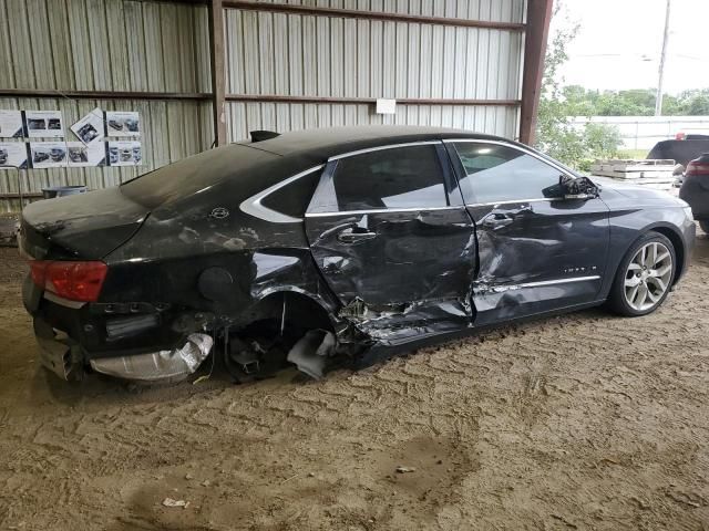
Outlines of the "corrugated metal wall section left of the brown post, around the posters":
<svg viewBox="0 0 709 531">
<path fill-rule="evenodd" d="M 58 91 L 58 97 L 0 97 L 0 108 L 60 110 L 68 140 L 78 140 L 69 126 L 96 106 L 140 112 L 142 166 L 21 171 L 24 191 L 119 184 L 208 148 L 212 104 L 71 100 L 61 92 L 209 92 L 207 9 L 131 0 L 0 0 L 0 87 Z M 17 192 L 17 180 L 14 171 L 0 171 L 0 192 Z M 3 201 L 4 210 L 18 206 Z"/>
</svg>

